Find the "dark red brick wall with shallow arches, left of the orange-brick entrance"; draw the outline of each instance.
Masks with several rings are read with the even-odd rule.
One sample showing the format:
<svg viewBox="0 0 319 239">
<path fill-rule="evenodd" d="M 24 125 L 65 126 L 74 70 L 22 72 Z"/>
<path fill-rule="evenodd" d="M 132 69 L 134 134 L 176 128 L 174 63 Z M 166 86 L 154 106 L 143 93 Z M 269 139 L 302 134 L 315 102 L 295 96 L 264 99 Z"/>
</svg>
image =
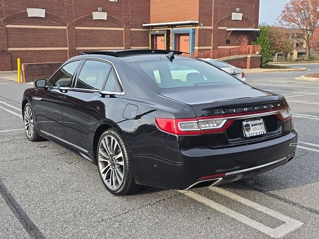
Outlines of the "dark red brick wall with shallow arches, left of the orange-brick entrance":
<svg viewBox="0 0 319 239">
<path fill-rule="evenodd" d="M 82 51 L 149 47 L 147 28 L 142 26 L 150 22 L 149 0 L 60 0 L 58 4 L 0 0 L 0 4 L 4 6 L 0 71 L 15 70 L 18 57 L 21 63 L 63 62 Z M 106 21 L 93 20 L 98 7 L 108 13 Z M 28 17 L 26 8 L 44 8 L 45 18 Z"/>
</svg>

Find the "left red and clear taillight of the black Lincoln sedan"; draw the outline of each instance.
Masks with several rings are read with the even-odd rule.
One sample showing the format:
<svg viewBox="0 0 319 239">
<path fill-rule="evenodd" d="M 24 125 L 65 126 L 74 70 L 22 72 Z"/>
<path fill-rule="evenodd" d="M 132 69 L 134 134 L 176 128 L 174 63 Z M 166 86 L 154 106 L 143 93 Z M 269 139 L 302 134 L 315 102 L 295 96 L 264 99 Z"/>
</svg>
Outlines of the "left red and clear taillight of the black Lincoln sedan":
<svg viewBox="0 0 319 239">
<path fill-rule="evenodd" d="M 223 132 L 233 122 L 227 119 L 155 119 L 156 125 L 164 132 L 176 135 L 198 135 L 201 133 Z M 227 123 L 226 123 L 227 122 Z"/>
</svg>

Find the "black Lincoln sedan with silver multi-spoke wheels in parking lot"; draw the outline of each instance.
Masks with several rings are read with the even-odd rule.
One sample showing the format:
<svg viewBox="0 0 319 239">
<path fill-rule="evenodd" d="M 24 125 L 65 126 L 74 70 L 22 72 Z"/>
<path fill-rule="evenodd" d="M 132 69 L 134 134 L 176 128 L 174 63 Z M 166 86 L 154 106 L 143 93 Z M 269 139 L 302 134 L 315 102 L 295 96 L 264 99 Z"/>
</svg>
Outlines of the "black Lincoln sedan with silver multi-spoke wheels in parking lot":
<svg viewBox="0 0 319 239">
<path fill-rule="evenodd" d="M 290 161 L 297 133 L 283 96 L 164 50 L 86 52 L 24 92 L 26 136 L 98 166 L 112 194 L 189 190 Z"/>
</svg>

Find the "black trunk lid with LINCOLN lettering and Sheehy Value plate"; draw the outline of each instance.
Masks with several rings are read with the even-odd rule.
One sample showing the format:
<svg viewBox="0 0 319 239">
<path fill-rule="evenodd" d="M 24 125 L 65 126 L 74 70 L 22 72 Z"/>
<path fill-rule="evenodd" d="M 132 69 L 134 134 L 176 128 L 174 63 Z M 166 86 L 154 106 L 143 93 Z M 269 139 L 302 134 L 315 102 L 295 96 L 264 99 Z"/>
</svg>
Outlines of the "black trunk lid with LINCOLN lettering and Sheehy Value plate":
<svg viewBox="0 0 319 239">
<path fill-rule="evenodd" d="M 236 86 L 235 86 L 236 85 Z M 284 97 L 255 89 L 246 84 L 227 84 L 213 87 L 190 87 L 183 89 L 166 89 L 160 95 L 190 105 L 198 120 L 207 118 L 227 118 L 225 130 L 202 130 L 206 146 L 210 148 L 227 147 L 261 140 L 286 133 L 289 125 L 284 125 L 272 112 L 287 107 Z M 260 115 L 260 113 L 267 113 Z M 245 119 L 236 119 L 244 115 Z M 251 115 L 251 117 L 250 117 Z M 257 115 L 257 117 L 255 117 Z M 233 119 L 235 118 L 235 119 Z M 265 131 L 247 137 L 244 131 L 244 120 L 256 120 L 263 124 Z M 262 122 L 262 123 L 261 123 Z M 225 124 L 226 125 L 226 124 Z M 254 124 L 251 124 L 254 125 Z"/>
</svg>

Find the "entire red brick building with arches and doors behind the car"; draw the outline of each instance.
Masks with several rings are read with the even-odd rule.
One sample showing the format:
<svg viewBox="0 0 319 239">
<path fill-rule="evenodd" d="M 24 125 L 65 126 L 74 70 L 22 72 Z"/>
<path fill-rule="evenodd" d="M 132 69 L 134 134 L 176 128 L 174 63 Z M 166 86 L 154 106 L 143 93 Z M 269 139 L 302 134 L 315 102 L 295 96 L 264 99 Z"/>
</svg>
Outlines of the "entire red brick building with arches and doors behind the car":
<svg viewBox="0 0 319 239">
<path fill-rule="evenodd" d="M 259 0 L 0 0 L 0 71 L 99 49 L 209 51 L 250 44 Z"/>
</svg>

